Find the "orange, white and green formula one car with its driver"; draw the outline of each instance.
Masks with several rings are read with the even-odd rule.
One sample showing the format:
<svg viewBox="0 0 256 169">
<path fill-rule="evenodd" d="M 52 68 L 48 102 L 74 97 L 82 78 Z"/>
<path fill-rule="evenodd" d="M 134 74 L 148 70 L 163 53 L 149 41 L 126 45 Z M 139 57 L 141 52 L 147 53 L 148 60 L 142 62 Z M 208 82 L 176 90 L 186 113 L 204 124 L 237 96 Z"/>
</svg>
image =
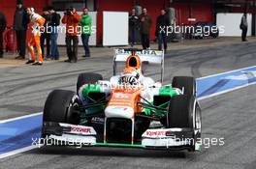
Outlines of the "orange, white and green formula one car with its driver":
<svg viewBox="0 0 256 169">
<path fill-rule="evenodd" d="M 116 74 L 118 63 L 125 66 Z M 159 82 L 144 76 L 149 65 L 160 68 Z M 172 84 L 162 85 L 163 74 L 163 51 L 115 49 L 110 80 L 85 72 L 77 92 L 48 95 L 42 138 L 55 145 L 200 151 L 195 79 L 176 76 Z"/>
</svg>

